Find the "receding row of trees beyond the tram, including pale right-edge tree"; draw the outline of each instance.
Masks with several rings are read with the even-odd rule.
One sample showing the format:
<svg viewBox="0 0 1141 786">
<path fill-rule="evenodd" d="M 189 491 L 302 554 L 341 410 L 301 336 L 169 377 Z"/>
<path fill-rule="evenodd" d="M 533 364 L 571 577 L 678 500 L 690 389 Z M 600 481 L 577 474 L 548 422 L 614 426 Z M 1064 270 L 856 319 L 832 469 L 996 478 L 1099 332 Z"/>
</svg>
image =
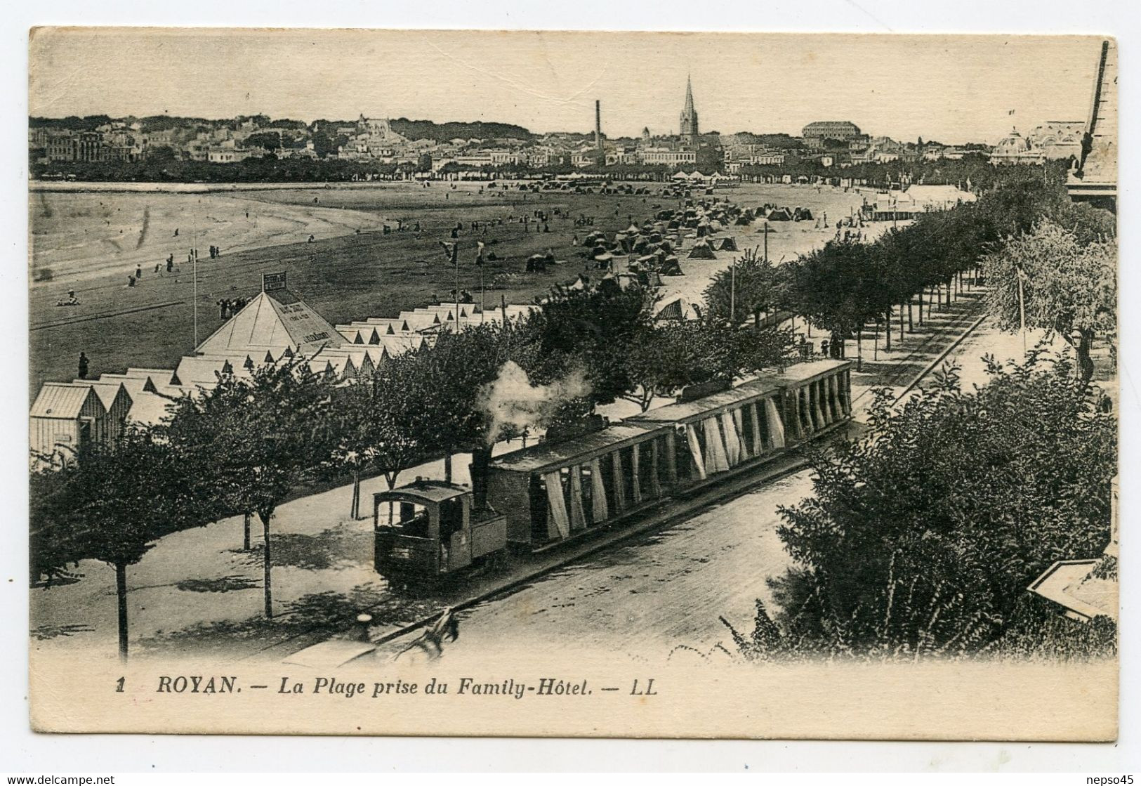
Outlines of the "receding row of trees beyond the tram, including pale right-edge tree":
<svg viewBox="0 0 1141 786">
<path fill-rule="evenodd" d="M 923 325 L 924 308 L 930 314 L 949 303 L 966 274 L 986 274 L 1002 326 L 1018 327 L 1021 277 L 1027 325 L 1057 330 L 1071 341 L 1089 379 L 1092 331 L 1114 318 L 1114 234 L 1112 216 L 1074 204 L 1061 187 L 1025 172 L 974 202 L 923 213 L 872 243 L 832 241 L 785 265 L 746 256 L 714 276 L 705 301 L 722 319 L 730 317 L 730 303 L 735 319 L 762 313 L 802 317 L 830 337 L 834 357 L 843 356 L 850 339 L 861 357 L 867 325 L 876 337 L 883 329 L 890 351 L 893 325 L 900 340 L 905 322 L 912 331 Z M 1058 265 L 1059 259 L 1067 261 Z"/>
</svg>

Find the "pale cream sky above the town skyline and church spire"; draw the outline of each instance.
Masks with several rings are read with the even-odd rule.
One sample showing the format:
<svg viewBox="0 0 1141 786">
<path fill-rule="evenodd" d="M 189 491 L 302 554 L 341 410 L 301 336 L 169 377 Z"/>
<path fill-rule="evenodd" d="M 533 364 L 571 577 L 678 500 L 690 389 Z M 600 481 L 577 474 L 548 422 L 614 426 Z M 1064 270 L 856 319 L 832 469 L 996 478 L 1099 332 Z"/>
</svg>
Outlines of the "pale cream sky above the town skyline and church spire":
<svg viewBox="0 0 1141 786">
<path fill-rule="evenodd" d="M 267 114 L 496 121 L 610 137 L 677 133 L 690 75 L 702 131 L 995 143 L 1084 120 L 1100 39 L 480 31 L 41 29 L 32 115 Z M 1013 111 L 1013 115 L 1011 115 Z"/>
</svg>

